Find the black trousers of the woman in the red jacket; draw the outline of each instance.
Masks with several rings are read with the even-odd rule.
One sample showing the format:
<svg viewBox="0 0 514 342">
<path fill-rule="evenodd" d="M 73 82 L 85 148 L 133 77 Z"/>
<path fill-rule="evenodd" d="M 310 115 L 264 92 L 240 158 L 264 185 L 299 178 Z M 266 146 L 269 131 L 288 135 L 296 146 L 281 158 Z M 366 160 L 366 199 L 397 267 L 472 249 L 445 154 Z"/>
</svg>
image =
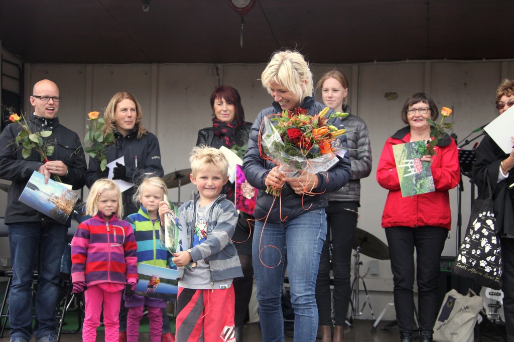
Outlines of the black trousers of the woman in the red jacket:
<svg viewBox="0 0 514 342">
<path fill-rule="evenodd" d="M 421 330 L 432 330 L 439 312 L 440 257 L 448 230 L 442 227 L 388 227 L 386 237 L 394 282 L 394 307 L 400 331 L 414 326 L 414 248 Z"/>
</svg>

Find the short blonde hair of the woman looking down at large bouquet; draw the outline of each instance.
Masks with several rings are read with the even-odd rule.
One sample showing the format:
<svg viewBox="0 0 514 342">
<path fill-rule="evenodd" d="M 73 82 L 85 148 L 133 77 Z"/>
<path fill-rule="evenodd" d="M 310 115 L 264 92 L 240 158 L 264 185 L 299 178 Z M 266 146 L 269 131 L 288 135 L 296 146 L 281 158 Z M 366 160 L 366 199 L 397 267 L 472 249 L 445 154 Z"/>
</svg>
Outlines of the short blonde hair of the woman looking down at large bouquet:
<svg viewBox="0 0 514 342">
<path fill-rule="evenodd" d="M 277 82 L 294 93 L 299 103 L 314 92 L 313 74 L 298 51 L 275 52 L 261 74 L 261 81 L 268 93 L 271 83 Z"/>
</svg>

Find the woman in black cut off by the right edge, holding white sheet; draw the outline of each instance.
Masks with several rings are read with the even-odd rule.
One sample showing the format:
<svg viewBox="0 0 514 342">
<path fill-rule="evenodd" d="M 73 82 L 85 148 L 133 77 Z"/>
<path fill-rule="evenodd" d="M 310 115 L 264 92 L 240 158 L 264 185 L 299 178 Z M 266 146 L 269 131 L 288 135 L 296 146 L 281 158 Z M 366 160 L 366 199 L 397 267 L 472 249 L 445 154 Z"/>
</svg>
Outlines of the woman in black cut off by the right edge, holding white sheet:
<svg viewBox="0 0 514 342">
<path fill-rule="evenodd" d="M 496 91 L 496 108 L 502 115 L 514 105 L 514 81 L 503 80 Z M 511 134 L 514 135 L 514 132 Z M 484 186 L 485 174 L 489 176 L 494 216 L 494 227 L 499 232 L 502 245 L 503 311 L 508 340 L 514 340 L 514 148 L 510 154 L 486 135 L 476 148 L 476 163 L 472 177 L 479 190 Z"/>
</svg>

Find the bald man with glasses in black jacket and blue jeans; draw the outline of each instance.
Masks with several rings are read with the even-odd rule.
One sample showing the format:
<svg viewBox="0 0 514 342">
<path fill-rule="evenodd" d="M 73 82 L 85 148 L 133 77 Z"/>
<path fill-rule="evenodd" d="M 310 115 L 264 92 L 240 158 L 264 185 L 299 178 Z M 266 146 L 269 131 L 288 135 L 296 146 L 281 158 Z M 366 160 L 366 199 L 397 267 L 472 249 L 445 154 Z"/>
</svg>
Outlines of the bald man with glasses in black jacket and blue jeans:
<svg viewBox="0 0 514 342">
<path fill-rule="evenodd" d="M 59 88 L 50 80 L 34 85 L 30 104 L 34 112 L 25 118 L 31 132 L 51 131 L 43 137 L 43 146 L 53 146 L 53 153 L 41 162 L 36 148 L 25 158 L 16 136 L 19 123 L 8 125 L 0 135 L 0 177 L 11 181 L 7 195 L 5 223 L 9 225 L 9 248 L 13 277 L 9 292 L 9 325 L 12 342 L 27 342 L 34 334 L 37 342 L 53 342 L 57 337 L 56 306 L 59 300 L 61 257 L 70 219 L 62 224 L 32 207 L 20 198 L 33 172 L 49 178 L 58 175 L 73 189 L 84 186 L 87 169 L 79 136 L 59 123 L 61 103 Z M 4 147 L 5 146 L 5 147 Z M 52 177 L 53 176 L 53 177 Z M 35 326 L 32 329 L 32 276 L 38 271 L 34 299 Z"/>
</svg>

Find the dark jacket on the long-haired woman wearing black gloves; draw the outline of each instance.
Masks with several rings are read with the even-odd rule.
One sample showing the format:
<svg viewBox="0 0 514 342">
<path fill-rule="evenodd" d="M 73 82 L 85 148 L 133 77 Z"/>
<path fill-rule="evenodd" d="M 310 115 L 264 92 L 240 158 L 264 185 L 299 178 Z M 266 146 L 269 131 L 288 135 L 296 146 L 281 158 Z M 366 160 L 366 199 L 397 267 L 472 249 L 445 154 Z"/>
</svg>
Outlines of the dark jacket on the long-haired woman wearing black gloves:
<svg viewBox="0 0 514 342">
<path fill-rule="evenodd" d="M 123 180 L 134 183 L 133 187 L 127 189 L 122 194 L 124 216 L 138 212 L 139 207 L 134 204 L 132 197 L 144 176 L 164 176 L 157 137 L 148 132 L 143 134 L 141 139 L 138 140 L 137 133 L 138 129 L 134 128 L 123 137 L 120 132 L 115 131 L 116 143 L 108 146 L 105 152 L 109 163 L 123 157 L 126 167 L 126 177 Z M 89 158 L 89 167 L 86 172 L 86 185 L 88 188 L 91 188 L 91 185 L 98 180 L 98 169 L 100 169 L 98 159 Z"/>
</svg>

